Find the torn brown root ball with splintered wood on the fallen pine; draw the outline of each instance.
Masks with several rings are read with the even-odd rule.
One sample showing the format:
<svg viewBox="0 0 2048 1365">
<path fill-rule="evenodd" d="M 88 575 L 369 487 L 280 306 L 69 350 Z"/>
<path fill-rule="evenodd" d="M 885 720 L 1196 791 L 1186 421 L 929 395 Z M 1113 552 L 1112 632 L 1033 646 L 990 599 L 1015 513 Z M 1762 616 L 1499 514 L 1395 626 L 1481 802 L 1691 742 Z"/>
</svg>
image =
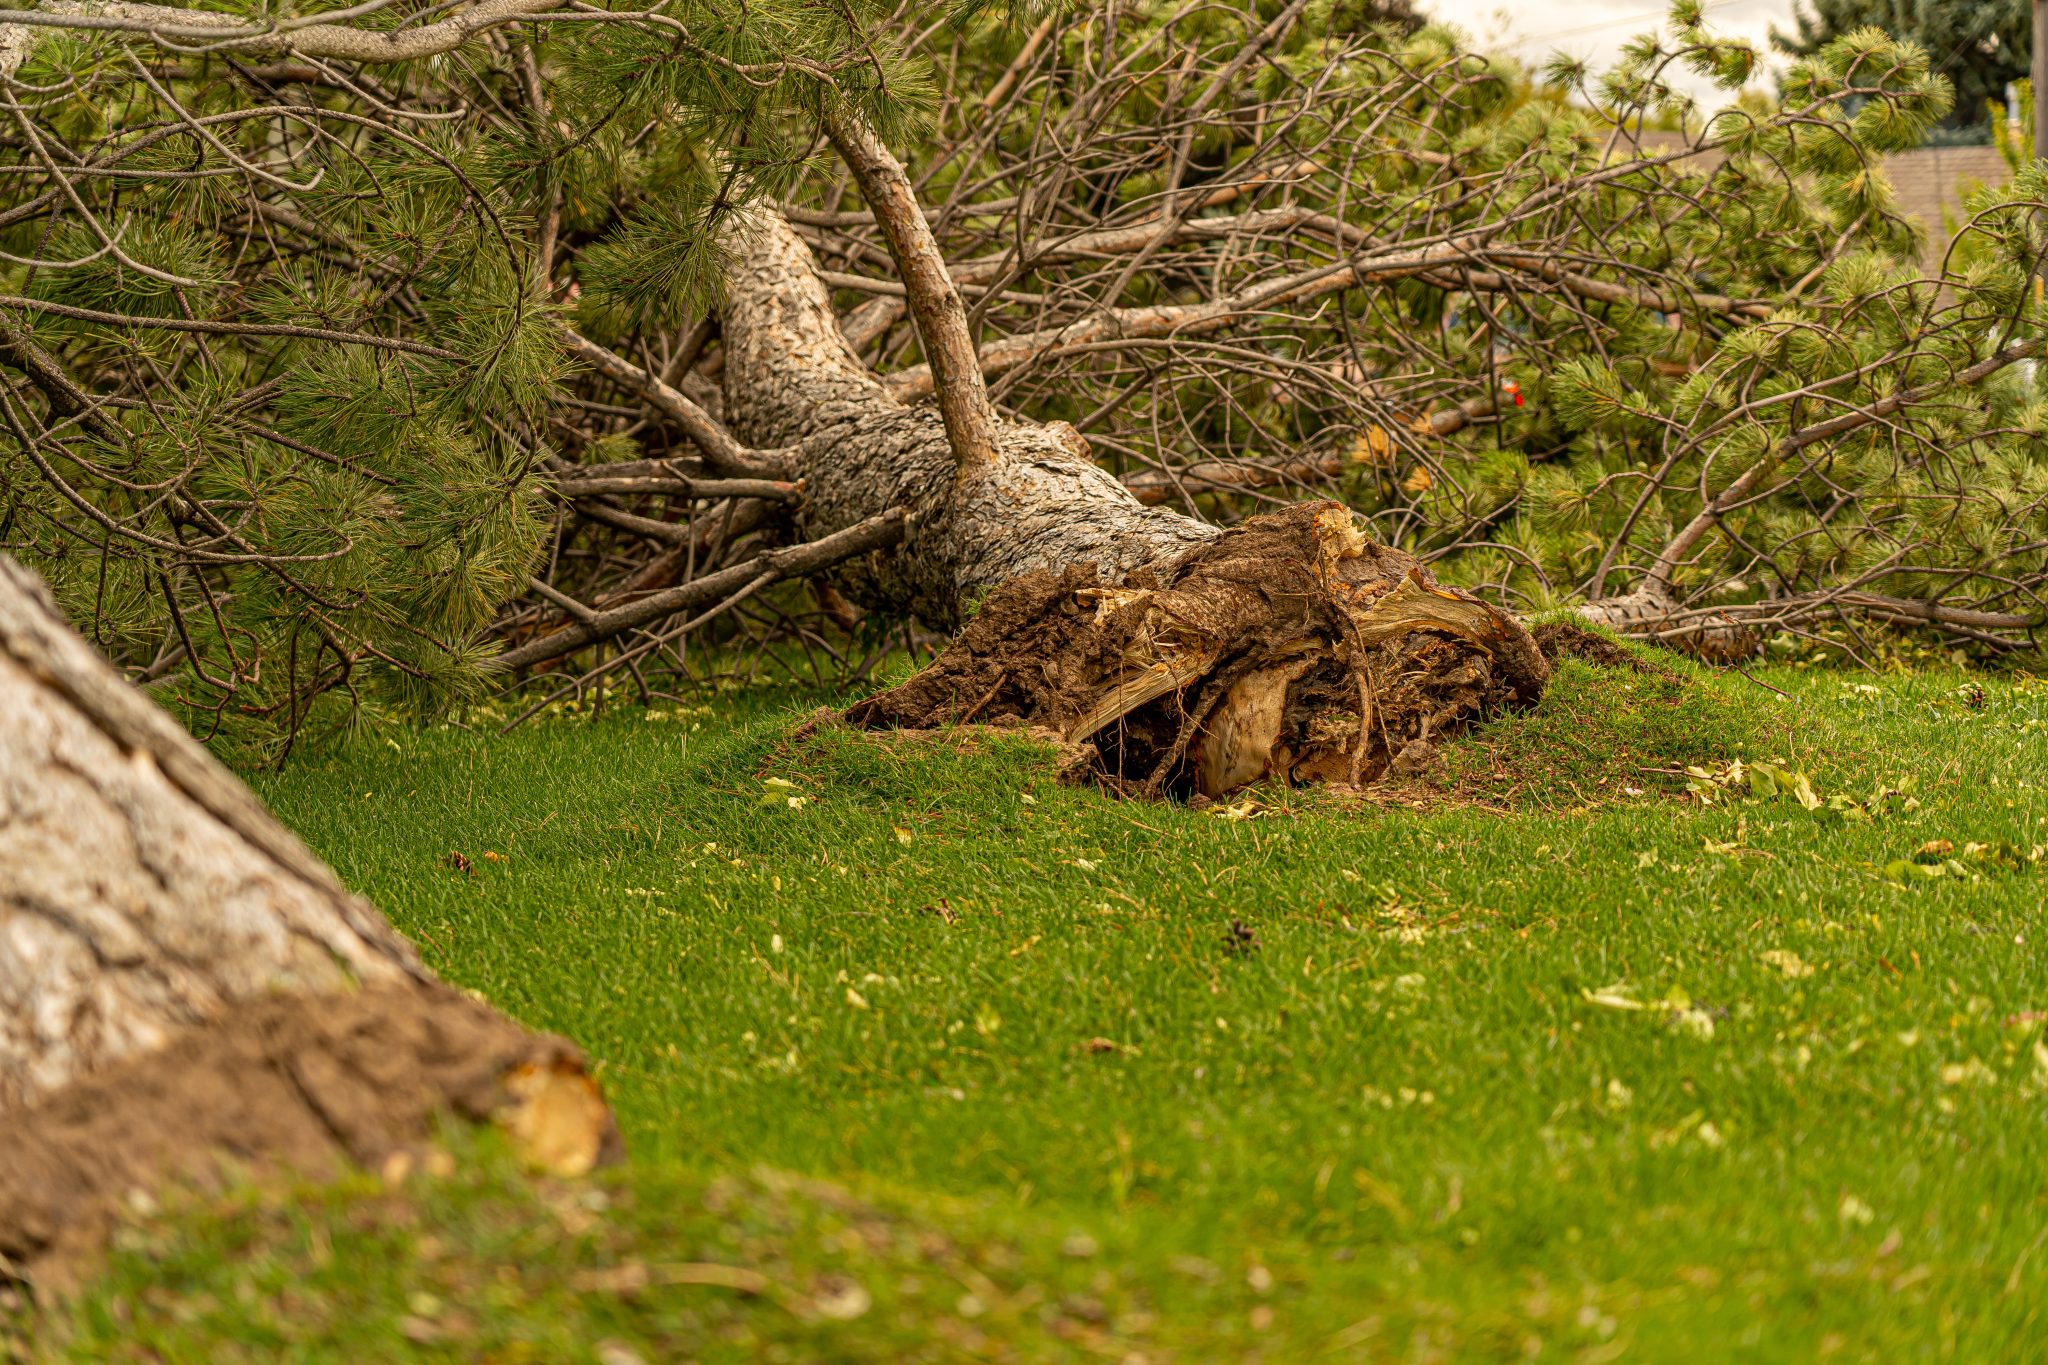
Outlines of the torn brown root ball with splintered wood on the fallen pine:
<svg viewBox="0 0 2048 1365">
<path fill-rule="evenodd" d="M 1534 706 L 1548 675 L 1520 620 L 1319 501 L 1122 583 L 1096 565 L 1004 583 L 928 669 L 846 718 L 1044 726 L 1094 745 L 1118 790 L 1214 798 L 1423 767 L 1438 741 Z"/>
</svg>

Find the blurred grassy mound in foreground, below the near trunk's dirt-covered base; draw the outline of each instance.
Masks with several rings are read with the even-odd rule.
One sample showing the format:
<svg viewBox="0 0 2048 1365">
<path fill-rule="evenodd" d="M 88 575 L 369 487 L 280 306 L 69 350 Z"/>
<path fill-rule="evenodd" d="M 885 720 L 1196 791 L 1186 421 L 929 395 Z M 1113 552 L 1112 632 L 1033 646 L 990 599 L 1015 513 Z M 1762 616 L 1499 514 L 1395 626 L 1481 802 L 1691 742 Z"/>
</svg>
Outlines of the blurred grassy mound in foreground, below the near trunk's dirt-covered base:
<svg viewBox="0 0 2048 1365">
<path fill-rule="evenodd" d="M 1257 1308 L 1192 1261 L 1161 1302 L 1085 1236 L 1014 1236 L 1020 1220 L 958 1201 L 664 1164 L 528 1179 L 498 1142 L 461 1134 L 442 1156 L 442 1173 L 397 1185 L 244 1191 L 131 1230 L 68 1324 L 70 1355 L 1124 1359 L 1184 1336 L 1178 1324 L 1214 1302 Z"/>
</svg>

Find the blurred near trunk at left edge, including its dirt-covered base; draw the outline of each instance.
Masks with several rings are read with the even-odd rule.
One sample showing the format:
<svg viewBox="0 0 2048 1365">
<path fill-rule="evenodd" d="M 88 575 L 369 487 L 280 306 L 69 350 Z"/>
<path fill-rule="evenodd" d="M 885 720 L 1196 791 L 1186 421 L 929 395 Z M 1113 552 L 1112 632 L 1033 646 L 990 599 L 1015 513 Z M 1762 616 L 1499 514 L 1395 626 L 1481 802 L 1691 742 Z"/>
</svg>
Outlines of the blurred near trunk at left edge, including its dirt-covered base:
<svg viewBox="0 0 2048 1365">
<path fill-rule="evenodd" d="M 133 1191 L 383 1162 L 434 1113 L 557 1171 L 580 1054 L 438 984 L 0 557 L 0 1275 L 61 1283 Z"/>
</svg>

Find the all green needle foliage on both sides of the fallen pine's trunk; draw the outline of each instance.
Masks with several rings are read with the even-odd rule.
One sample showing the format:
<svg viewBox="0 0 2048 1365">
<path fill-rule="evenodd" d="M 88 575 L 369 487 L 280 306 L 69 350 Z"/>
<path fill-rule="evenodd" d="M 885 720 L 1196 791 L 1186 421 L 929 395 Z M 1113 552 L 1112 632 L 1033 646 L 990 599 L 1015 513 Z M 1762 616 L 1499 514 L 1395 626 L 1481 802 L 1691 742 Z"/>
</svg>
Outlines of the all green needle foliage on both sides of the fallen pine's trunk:
<svg viewBox="0 0 2048 1365">
<path fill-rule="evenodd" d="M 1675 76 L 1735 92 L 1759 55 L 1698 0 L 1608 72 L 1475 55 L 1401 6 L 1319 0 L 1272 37 L 1282 10 L 1145 0 L 1040 33 L 1028 6 L 692 0 L 362 72 L 53 35 L 0 135 L 0 548 L 250 759 L 481 696 L 565 546 L 596 563 L 571 583 L 592 598 L 631 569 L 553 471 L 672 448 L 586 417 L 557 319 L 651 362 L 717 307 L 745 205 L 862 209 L 817 137 L 844 100 L 903 153 L 950 258 L 1012 254 L 1001 293 L 969 299 L 985 340 L 1458 244 L 995 377 L 1116 473 L 1337 471 L 1194 485 L 1184 510 L 1335 493 L 1520 608 L 1665 573 L 1694 606 L 1851 585 L 2032 610 L 2044 401 L 2032 362 L 1985 362 L 2042 336 L 2048 182 L 1978 192 L 1929 272 L 1880 158 L 1956 106 L 1939 53 L 1843 31 L 1778 102 L 1706 117 Z M 1163 213 L 1313 221 L 1141 260 L 1038 250 Z M 885 274 L 868 248 L 825 264 Z M 897 323 L 870 358 L 922 356 Z M 1659 567 L 1702 512 L 1710 532 Z"/>
</svg>

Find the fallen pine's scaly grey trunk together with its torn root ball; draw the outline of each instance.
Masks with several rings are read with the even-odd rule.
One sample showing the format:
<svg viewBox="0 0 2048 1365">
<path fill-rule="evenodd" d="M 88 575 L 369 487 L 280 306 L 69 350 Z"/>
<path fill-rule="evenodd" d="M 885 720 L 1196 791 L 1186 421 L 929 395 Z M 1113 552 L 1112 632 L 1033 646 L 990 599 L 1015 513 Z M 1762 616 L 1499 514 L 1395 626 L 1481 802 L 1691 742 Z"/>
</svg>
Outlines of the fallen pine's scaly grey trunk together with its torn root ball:
<svg viewBox="0 0 2048 1365">
<path fill-rule="evenodd" d="M 901 544 L 840 569 L 848 596 L 967 622 L 858 722 L 1053 726 L 1110 782 L 1221 796 L 1415 767 L 1548 677 L 1513 616 L 1337 503 L 1225 532 L 1139 503 L 1065 424 L 991 417 L 993 458 L 967 458 L 936 407 L 860 364 L 811 250 L 768 213 L 727 280 L 725 413 L 743 442 L 795 452 L 807 538 L 907 510 Z"/>
</svg>

